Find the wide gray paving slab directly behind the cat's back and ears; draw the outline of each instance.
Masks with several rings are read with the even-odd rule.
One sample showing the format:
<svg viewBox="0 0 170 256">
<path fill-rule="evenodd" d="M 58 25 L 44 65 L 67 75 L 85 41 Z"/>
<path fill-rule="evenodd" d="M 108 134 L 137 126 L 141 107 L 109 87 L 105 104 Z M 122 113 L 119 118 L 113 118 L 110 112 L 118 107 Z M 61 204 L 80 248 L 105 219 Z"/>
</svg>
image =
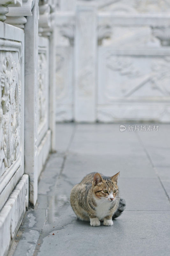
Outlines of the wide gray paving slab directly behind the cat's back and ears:
<svg viewBox="0 0 170 256">
<path fill-rule="evenodd" d="M 156 173 L 146 156 L 92 156 L 68 155 L 63 174 L 69 179 L 81 178 L 90 172 L 100 172 L 106 176 L 113 176 L 120 172 L 120 177 L 155 178 Z"/>
</svg>

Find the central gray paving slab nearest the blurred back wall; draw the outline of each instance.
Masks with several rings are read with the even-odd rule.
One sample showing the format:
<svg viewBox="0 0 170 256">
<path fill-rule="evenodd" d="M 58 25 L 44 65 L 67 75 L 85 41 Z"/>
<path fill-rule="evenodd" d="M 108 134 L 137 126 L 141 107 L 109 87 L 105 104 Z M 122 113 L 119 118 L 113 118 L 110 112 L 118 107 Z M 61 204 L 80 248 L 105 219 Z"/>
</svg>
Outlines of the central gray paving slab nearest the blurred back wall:
<svg viewBox="0 0 170 256">
<path fill-rule="evenodd" d="M 113 156 L 145 156 L 142 145 L 139 143 L 135 132 L 104 131 L 79 131 L 71 143 L 70 154 L 78 155 L 113 155 Z"/>
</svg>

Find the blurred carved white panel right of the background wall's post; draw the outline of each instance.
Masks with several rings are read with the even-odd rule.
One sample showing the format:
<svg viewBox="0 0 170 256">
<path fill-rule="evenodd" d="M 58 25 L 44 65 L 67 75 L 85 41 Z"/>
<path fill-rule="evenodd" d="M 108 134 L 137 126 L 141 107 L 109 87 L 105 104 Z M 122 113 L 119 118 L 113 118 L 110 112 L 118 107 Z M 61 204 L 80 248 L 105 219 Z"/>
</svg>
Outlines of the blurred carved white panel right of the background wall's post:
<svg viewBox="0 0 170 256">
<path fill-rule="evenodd" d="M 98 120 L 170 121 L 170 49 L 99 49 Z"/>
</svg>

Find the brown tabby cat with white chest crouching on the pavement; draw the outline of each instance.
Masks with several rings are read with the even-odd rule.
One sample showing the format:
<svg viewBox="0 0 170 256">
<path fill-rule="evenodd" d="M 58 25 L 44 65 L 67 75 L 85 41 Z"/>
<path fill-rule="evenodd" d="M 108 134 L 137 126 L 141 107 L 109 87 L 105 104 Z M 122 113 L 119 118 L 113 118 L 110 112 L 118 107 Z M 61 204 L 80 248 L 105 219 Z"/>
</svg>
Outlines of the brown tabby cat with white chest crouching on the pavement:
<svg viewBox="0 0 170 256">
<path fill-rule="evenodd" d="M 89 221 L 91 226 L 112 226 L 112 219 L 117 218 L 125 209 L 125 201 L 120 198 L 117 179 L 92 172 L 75 185 L 70 193 L 70 203 L 78 219 Z"/>
</svg>

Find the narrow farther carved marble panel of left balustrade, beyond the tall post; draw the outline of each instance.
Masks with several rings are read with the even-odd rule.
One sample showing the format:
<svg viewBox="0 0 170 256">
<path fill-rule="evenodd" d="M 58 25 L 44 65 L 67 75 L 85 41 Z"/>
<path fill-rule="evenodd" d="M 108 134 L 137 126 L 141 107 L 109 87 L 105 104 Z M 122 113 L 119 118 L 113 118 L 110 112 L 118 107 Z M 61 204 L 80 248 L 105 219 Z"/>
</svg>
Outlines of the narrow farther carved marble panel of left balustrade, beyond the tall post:
<svg viewBox="0 0 170 256">
<path fill-rule="evenodd" d="M 49 129 L 49 39 L 38 38 L 38 139 L 37 176 L 39 177 L 51 148 Z"/>
</svg>

